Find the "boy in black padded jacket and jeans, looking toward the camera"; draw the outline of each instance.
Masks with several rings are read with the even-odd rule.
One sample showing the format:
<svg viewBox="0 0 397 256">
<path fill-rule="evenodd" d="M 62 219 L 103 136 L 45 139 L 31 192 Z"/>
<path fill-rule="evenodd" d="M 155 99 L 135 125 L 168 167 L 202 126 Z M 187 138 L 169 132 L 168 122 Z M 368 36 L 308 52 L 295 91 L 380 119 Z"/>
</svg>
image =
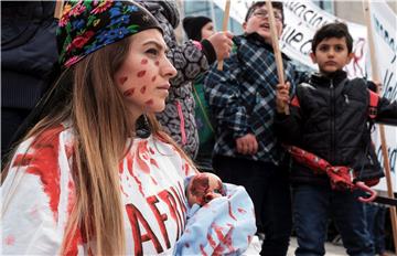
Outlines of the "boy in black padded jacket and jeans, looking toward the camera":
<svg viewBox="0 0 397 256">
<path fill-rule="evenodd" d="M 279 138 L 326 160 L 348 167 L 355 180 L 373 183 L 383 177 L 371 145 L 368 83 L 348 79 L 342 68 L 353 57 L 352 36 L 343 23 L 322 26 L 312 41 L 311 57 L 320 74 L 297 87 L 291 115 L 288 84 L 278 85 L 276 127 Z M 374 96 L 374 95 L 373 95 Z M 397 103 L 379 98 L 376 120 L 397 120 Z M 329 177 L 296 162 L 292 168 L 296 255 L 324 255 L 328 217 L 332 216 L 348 255 L 374 255 L 358 190 L 333 190 Z M 376 183 L 376 182 L 375 182 Z"/>
</svg>

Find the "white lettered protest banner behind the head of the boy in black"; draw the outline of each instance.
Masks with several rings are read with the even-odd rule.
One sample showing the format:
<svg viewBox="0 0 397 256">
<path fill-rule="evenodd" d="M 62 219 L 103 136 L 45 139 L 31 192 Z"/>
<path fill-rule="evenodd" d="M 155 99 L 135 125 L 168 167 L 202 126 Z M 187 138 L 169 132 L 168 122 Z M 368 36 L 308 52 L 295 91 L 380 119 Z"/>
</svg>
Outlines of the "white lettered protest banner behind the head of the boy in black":
<svg viewBox="0 0 397 256">
<path fill-rule="evenodd" d="M 213 0 L 223 9 L 224 0 Z M 234 0 L 230 7 L 230 17 L 243 23 L 245 14 L 253 0 Z M 314 32 L 323 24 L 334 21 L 343 21 L 326 11 L 320 9 L 312 1 L 283 1 L 285 6 L 285 29 L 280 39 L 280 49 L 289 57 L 316 70 L 316 65 L 310 60 L 311 39 Z M 347 65 L 346 71 L 350 77 L 365 76 L 366 29 L 352 22 L 343 21 L 354 39 L 354 60 Z"/>
</svg>

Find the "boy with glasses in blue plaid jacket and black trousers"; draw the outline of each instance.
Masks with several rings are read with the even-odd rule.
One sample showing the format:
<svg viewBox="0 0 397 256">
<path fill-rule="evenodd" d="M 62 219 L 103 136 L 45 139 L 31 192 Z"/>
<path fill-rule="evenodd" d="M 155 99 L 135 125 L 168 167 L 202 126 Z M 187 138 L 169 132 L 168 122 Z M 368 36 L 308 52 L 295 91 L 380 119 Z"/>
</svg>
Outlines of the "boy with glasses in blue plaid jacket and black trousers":
<svg viewBox="0 0 397 256">
<path fill-rule="evenodd" d="M 283 28 L 282 2 L 271 2 L 277 35 Z M 212 67 L 204 81 L 205 97 L 216 124 L 213 167 L 224 181 L 244 185 L 255 205 L 258 233 L 265 233 L 261 255 L 286 255 L 291 235 L 291 199 L 283 150 L 275 135 L 275 53 L 265 1 L 253 3 L 233 39 L 236 52 L 223 71 Z M 286 79 L 303 79 L 282 55 Z"/>
</svg>

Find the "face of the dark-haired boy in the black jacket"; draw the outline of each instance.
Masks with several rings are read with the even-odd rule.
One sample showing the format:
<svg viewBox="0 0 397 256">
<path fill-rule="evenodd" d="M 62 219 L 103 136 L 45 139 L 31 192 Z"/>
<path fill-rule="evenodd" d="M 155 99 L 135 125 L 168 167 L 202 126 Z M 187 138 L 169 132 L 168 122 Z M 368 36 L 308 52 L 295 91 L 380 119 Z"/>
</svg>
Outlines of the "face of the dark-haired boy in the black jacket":
<svg viewBox="0 0 397 256">
<path fill-rule="evenodd" d="M 324 75 L 341 71 L 350 63 L 353 53 L 348 53 L 345 38 L 324 39 L 316 45 L 315 53 L 310 54 L 313 63 L 319 65 Z"/>
</svg>

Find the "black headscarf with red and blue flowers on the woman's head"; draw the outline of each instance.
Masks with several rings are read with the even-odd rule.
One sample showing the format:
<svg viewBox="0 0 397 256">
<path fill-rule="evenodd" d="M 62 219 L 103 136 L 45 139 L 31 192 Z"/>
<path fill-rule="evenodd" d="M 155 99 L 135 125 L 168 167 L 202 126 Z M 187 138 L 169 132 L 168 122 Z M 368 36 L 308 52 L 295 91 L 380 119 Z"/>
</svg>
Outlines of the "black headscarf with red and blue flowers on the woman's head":
<svg viewBox="0 0 397 256">
<path fill-rule="evenodd" d="M 63 8 L 56 31 L 60 64 L 69 67 L 105 45 L 161 26 L 135 1 L 79 0 Z"/>
</svg>

